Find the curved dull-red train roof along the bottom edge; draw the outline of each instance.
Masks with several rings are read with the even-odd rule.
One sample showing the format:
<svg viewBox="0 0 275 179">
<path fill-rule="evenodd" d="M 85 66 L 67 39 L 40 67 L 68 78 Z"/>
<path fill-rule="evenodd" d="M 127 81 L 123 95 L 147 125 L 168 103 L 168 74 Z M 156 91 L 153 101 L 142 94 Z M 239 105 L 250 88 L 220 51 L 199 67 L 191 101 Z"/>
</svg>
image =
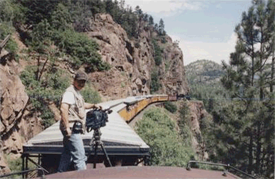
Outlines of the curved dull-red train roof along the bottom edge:
<svg viewBox="0 0 275 179">
<path fill-rule="evenodd" d="M 54 173 L 44 178 L 239 178 L 232 173 L 182 167 L 108 167 Z"/>
</svg>

